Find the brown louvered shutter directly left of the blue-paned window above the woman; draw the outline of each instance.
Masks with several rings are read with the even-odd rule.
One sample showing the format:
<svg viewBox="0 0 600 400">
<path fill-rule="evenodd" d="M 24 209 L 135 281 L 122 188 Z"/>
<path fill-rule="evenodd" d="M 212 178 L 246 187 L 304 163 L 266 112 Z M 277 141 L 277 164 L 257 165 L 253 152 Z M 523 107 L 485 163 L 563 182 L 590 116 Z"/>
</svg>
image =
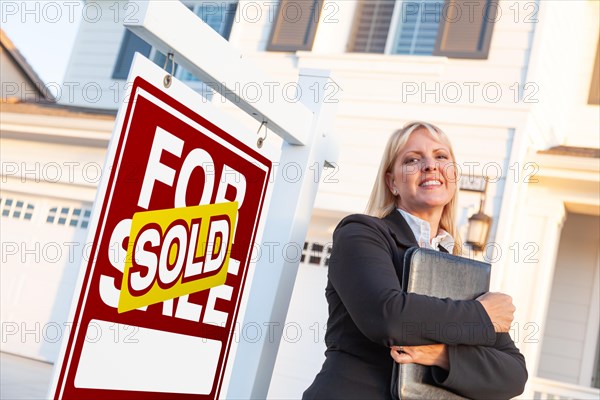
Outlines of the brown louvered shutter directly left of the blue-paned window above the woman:
<svg viewBox="0 0 600 400">
<path fill-rule="evenodd" d="M 356 10 L 350 51 L 383 53 L 395 0 L 362 0 Z"/>
</svg>

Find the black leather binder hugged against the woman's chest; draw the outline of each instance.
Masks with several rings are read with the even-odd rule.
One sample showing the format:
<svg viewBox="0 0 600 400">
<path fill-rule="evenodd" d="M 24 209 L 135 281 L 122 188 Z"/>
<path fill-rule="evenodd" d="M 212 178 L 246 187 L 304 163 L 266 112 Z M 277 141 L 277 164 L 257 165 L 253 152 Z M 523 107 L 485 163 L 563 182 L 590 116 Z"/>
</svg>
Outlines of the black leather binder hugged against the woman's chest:
<svg viewBox="0 0 600 400">
<path fill-rule="evenodd" d="M 491 265 L 439 251 L 412 247 L 404 255 L 402 289 L 453 300 L 473 300 L 489 291 Z M 394 363 L 392 394 L 403 400 L 465 399 L 433 385 L 431 367 Z"/>
</svg>

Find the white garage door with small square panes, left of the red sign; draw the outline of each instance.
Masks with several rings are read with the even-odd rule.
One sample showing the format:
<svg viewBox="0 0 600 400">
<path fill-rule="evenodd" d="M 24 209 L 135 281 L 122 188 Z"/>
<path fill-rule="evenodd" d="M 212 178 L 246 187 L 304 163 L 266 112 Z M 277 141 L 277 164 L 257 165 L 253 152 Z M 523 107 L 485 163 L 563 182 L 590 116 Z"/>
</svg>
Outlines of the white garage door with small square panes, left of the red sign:
<svg viewBox="0 0 600 400">
<path fill-rule="evenodd" d="M 86 240 L 91 203 L 0 192 L 1 350 L 55 362 Z"/>
</svg>

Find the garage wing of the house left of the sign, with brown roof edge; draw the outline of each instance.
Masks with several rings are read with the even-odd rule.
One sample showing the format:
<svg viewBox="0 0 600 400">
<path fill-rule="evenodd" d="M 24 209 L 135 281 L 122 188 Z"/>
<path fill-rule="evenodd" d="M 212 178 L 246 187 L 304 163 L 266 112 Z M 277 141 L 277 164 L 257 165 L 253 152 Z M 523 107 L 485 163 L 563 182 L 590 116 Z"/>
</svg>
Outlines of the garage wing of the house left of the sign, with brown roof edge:
<svg viewBox="0 0 600 400">
<path fill-rule="evenodd" d="M 0 44 L 1 349 L 53 362 L 115 112 L 56 104 L 3 31 Z"/>
</svg>

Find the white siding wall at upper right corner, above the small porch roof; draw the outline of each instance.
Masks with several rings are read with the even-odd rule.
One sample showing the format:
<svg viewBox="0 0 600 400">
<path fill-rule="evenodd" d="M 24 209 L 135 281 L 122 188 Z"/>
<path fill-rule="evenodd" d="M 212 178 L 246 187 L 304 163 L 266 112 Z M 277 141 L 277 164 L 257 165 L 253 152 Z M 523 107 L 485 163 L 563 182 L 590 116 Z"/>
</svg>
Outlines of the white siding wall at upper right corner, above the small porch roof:
<svg viewBox="0 0 600 400">
<path fill-rule="evenodd" d="M 537 148 L 557 144 L 599 147 L 598 106 L 590 106 L 594 56 L 600 29 L 598 1 L 541 1 L 539 28 L 527 76 L 540 99 L 532 111 Z M 566 33 L 568 32 L 568 35 Z"/>
</svg>

